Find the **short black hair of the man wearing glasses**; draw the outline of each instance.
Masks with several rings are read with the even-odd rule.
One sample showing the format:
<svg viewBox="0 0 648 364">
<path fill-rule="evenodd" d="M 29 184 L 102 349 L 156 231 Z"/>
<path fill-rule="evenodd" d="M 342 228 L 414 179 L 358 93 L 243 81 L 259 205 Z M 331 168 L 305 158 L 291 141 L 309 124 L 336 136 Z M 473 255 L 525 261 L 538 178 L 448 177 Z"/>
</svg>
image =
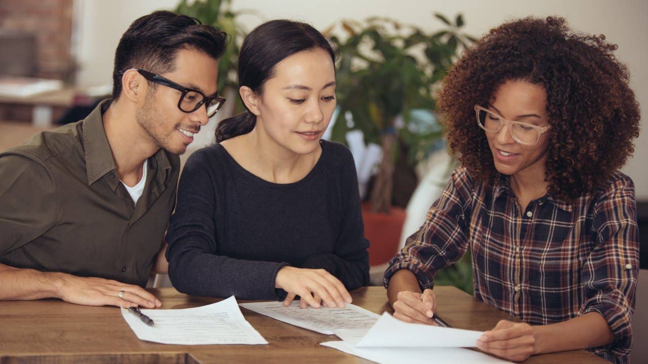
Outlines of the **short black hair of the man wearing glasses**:
<svg viewBox="0 0 648 364">
<path fill-rule="evenodd" d="M 152 73 L 172 72 L 178 51 L 196 49 L 217 60 L 225 51 L 227 34 L 193 17 L 156 11 L 133 21 L 115 51 L 113 98 L 121 95 L 121 78 L 131 68 Z"/>
</svg>

